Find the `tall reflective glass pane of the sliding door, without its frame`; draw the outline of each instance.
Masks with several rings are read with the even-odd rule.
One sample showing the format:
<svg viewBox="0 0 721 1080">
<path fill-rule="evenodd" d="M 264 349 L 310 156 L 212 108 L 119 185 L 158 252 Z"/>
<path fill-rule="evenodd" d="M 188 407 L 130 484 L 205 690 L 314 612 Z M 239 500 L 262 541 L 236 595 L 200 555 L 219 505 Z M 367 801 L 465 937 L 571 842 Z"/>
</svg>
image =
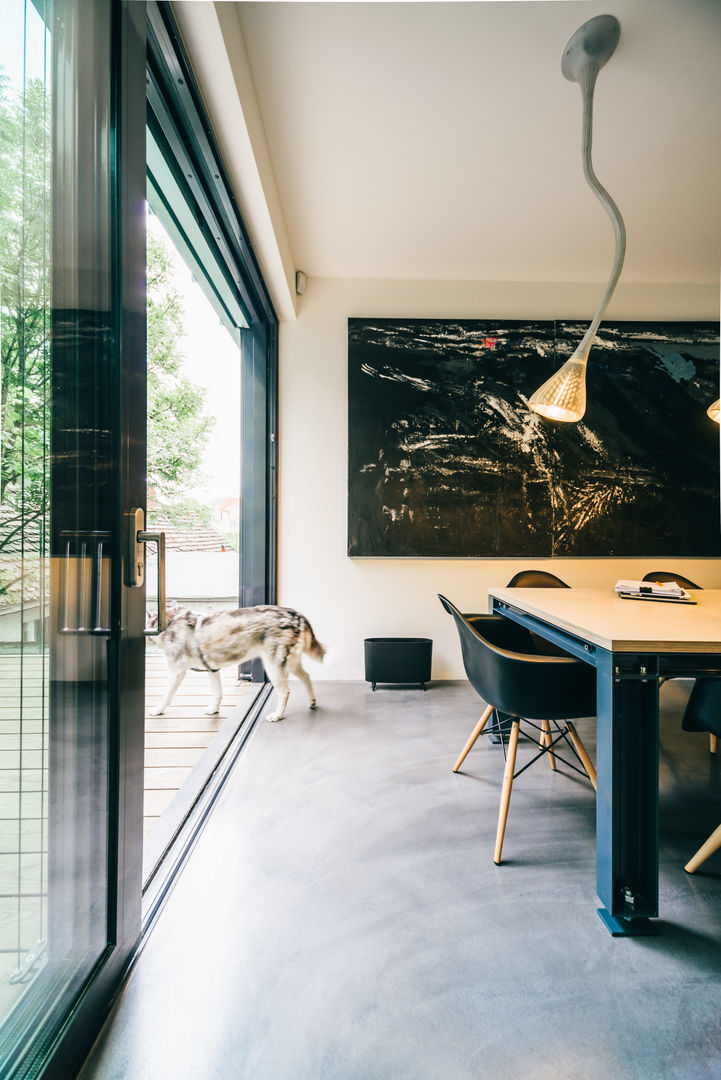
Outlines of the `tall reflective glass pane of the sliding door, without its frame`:
<svg viewBox="0 0 721 1080">
<path fill-rule="evenodd" d="M 110 3 L 0 37 L 0 1075 L 108 945 Z"/>
</svg>

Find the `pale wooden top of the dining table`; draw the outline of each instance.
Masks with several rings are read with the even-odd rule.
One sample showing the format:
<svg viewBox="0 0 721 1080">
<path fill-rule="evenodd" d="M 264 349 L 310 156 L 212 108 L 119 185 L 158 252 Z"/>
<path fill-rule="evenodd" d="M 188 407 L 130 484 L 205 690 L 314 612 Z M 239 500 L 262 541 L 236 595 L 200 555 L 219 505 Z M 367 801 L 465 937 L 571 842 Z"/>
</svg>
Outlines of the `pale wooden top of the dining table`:
<svg viewBox="0 0 721 1080">
<path fill-rule="evenodd" d="M 612 652 L 721 652 L 721 589 L 696 604 L 622 599 L 608 589 L 499 589 L 489 595 Z"/>
</svg>

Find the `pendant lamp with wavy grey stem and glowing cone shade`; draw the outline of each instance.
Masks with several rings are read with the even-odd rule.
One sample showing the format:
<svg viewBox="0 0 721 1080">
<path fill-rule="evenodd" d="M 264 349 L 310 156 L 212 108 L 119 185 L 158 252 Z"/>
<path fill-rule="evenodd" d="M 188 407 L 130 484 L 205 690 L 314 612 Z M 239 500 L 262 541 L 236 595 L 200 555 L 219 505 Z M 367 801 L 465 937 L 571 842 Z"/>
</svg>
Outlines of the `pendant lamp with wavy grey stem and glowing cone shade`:
<svg viewBox="0 0 721 1080">
<path fill-rule="evenodd" d="M 530 407 L 552 420 L 580 420 L 586 411 L 586 362 L 596 330 L 616 287 L 626 254 L 626 228 L 618 207 L 601 187 L 590 160 L 594 123 L 594 87 L 603 65 L 611 58 L 621 26 L 613 15 L 597 15 L 576 30 L 563 52 L 561 71 L 581 86 L 583 98 L 583 171 L 588 186 L 611 218 L 616 240 L 613 269 L 606 293 L 581 345 L 570 360 L 540 387 L 529 400 Z"/>
</svg>

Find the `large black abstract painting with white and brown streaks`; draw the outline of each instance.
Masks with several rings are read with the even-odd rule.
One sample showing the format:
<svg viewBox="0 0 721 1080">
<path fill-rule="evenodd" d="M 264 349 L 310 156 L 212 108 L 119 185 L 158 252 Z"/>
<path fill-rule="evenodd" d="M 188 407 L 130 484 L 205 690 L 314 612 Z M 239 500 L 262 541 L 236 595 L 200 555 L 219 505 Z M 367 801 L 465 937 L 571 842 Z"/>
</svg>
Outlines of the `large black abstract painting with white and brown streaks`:
<svg viewBox="0 0 721 1080">
<path fill-rule="evenodd" d="M 531 413 L 585 328 L 349 320 L 349 554 L 721 554 L 718 326 L 604 323 L 583 420 Z"/>
</svg>

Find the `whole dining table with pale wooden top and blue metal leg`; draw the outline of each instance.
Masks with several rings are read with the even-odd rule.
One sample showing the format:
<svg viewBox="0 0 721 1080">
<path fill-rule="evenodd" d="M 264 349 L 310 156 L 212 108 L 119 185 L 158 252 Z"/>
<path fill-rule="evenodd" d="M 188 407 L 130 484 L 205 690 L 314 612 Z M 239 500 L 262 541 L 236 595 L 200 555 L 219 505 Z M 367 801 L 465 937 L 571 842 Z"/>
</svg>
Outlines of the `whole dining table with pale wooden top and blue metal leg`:
<svg viewBox="0 0 721 1080">
<path fill-rule="evenodd" d="M 596 669 L 596 892 L 615 936 L 658 932 L 658 688 L 721 677 L 721 590 L 689 596 L 489 589 L 491 612 Z"/>
</svg>

